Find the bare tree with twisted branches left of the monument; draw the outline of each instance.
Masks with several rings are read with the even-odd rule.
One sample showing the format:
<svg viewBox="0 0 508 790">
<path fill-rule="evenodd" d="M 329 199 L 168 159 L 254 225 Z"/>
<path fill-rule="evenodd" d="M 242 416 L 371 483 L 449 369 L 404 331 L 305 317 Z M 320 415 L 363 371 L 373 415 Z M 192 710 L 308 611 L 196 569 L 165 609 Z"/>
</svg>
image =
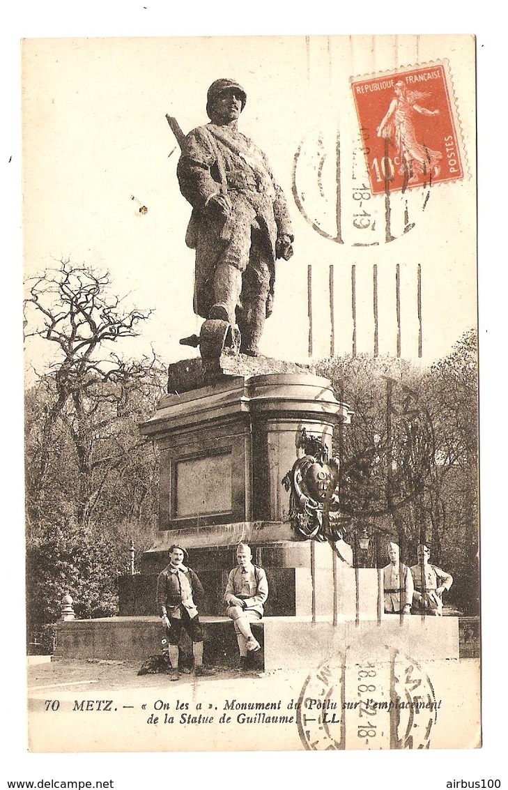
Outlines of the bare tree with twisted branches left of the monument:
<svg viewBox="0 0 508 790">
<path fill-rule="evenodd" d="M 65 428 L 77 468 L 77 522 L 91 517 L 109 476 L 129 463 L 129 453 L 143 441 L 119 442 L 124 415 L 134 416 L 143 394 L 160 387 L 161 367 L 155 353 L 127 360 L 105 344 L 136 337 L 152 310 L 130 309 L 111 293 L 109 272 L 62 259 L 27 282 L 24 337 L 55 344 L 56 357 L 45 380 L 50 405 L 43 412 L 37 439 L 38 464 L 31 468 L 34 491 L 54 487 L 53 442 Z M 155 388 L 155 389 L 154 389 Z M 135 426 L 130 419 L 130 426 Z M 132 430 L 132 427 L 130 427 Z M 137 435 L 137 429 L 136 429 Z M 100 478 L 96 473 L 100 470 Z M 37 502 L 37 493 L 34 502 Z"/>
</svg>

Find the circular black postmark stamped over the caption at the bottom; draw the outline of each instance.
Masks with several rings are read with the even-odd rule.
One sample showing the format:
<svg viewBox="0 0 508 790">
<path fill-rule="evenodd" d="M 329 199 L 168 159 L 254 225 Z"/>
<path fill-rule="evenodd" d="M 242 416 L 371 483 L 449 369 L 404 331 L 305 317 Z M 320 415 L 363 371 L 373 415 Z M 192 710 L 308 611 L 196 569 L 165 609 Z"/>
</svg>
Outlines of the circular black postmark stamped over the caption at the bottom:
<svg viewBox="0 0 508 790">
<path fill-rule="evenodd" d="M 299 737 L 310 751 L 427 749 L 439 705 L 418 661 L 388 645 L 375 660 L 348 648 L 303 683 Z"/>
</svg>

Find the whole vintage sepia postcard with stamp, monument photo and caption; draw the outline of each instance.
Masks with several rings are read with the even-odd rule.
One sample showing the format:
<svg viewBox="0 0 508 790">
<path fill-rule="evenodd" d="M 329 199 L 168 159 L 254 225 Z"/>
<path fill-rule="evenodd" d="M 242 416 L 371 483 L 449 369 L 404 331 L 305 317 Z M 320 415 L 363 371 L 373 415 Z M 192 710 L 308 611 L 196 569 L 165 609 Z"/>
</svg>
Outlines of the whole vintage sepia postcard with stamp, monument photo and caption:
<svg viewBox="0 0 508 790">
<path fill-rule="evenodd" d="M 24 40 L 30 751 L 481 747 L 475 62 Z"/>
</svg>

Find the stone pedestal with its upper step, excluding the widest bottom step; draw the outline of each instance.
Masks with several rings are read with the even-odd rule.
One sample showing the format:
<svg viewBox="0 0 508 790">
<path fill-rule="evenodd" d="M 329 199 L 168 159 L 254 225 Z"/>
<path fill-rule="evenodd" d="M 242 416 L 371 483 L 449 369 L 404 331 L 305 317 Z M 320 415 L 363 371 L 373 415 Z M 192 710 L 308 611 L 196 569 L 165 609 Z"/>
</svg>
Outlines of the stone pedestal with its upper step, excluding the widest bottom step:
<svg viewBox="0 0 508 790">
<path fill-rule="evenodd" d="M 355 611 L 354 571 L 342 559 L 333 570 L 328 544 L 311 549 L 299 539 L 282 482 L 302 454 L 297 446 L 303 429 L 331 454 L 334 428 L 350 422 L 351 412 L 328 379 L 303 367 L 266 359 L 234 364 L 235 374 L 208 385 L 196 361 L 171 366 L 174 392 L 141 427 L 160 450 L 160 531 L 141 559 L 141 577 L 120 582 L 121 615 L 156 613 L 156 576 L 175 543 L 189 552 L 210 615 L 224 613 L 224 588 L 240 542 L 250 544 L 254 562 L 268 575 L 267 615 L 312 615 L 311 551 L 318 558 L 314 609 L 332 611 L 335 573 L 341 578 L 341 614 Z M 257 366 L 271 372 L 256 374 Z"/>
</svg>

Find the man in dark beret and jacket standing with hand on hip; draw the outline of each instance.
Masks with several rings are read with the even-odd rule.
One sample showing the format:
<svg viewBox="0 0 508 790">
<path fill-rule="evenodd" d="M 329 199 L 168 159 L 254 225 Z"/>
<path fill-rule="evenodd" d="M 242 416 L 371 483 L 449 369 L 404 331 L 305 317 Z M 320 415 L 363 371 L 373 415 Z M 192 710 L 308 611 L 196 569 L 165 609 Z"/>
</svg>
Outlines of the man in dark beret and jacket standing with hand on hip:
<svg viewBox="0 0 508 790">
<path fill-rule="evenodd" d="M 194 672 L 196 675 L 215 675 L 213 669 L 203 666 L 203 632 L 199 622 L 198 608 L 194 603 L 205 597 L 205 590 L 192 568 L 183 564 L 188 555 L 182 546 L 173 545 L 169 549 L 170 562 L 157 578 L 157 606 L 160 619 L 166 630 L 169 658 L 171 660 L 171 680 L 179 680 L 179 641 L 182 628 L 192 640 Z"/>
</svg>

